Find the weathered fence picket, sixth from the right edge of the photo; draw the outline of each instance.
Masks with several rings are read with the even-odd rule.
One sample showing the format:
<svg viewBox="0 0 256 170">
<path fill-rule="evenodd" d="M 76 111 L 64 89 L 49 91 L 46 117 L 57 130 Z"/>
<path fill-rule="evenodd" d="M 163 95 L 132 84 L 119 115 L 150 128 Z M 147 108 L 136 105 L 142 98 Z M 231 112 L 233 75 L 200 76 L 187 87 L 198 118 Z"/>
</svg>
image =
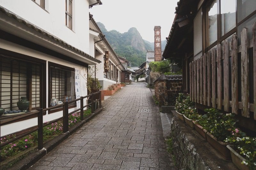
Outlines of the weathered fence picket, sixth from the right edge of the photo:
<svg viewBox="0 0 256 170">
<path fill-rule="evenodd" d="M 212 107 L 216 108 L 216 50 L 212 48 Z"/>
</svg>

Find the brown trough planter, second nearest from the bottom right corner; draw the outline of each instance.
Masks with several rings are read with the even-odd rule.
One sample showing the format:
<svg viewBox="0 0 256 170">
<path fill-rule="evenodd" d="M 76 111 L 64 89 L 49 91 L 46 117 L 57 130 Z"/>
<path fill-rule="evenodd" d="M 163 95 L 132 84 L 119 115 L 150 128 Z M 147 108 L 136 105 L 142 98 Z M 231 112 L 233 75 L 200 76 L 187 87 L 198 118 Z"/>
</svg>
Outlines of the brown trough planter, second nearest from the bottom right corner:
<svg viewBox="0 0 256 170">
<path fill-rule="evenodd" d="M 225 159 L 231 160 L 231 154 L 227 148 L 228 143 L 218 141 L 216 137 L 212 136 L 209 132 L 206 134 L 207 142 L 212 145 L 212 147 L 218 151 Z"/>
</svg>

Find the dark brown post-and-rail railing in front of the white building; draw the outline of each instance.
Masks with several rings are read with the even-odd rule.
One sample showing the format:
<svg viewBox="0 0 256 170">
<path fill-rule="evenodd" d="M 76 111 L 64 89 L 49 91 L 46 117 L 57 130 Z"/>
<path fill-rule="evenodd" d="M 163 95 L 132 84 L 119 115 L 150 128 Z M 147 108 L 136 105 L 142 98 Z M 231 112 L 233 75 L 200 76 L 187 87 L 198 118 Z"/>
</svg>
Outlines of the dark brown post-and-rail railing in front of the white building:
<svg viewBox="0 0 256 170">
<path fill-rule="evenodd" d="M 96 102 L 99 102 L 99 107 L 101 108 L 101 100 L 100 100 L 100 91 L 99 92 L 95 92 L 95 93 L 92 93 L 90 95 L 87 95 L 87 96 L 84 96 L 84 97 L 80 97 L 79 99 L 76 99 L 76 100 L 72 100 L 72 101 L 66 101 L 64 102 L 63 104 L 60 104 L 60 105 L 57 105 L 57 106 L 53 106 L 53 107 L 49 107 L 49 108 L 40 108 L 38 109 L 36 112 L 33 112 L 32 115 L 37 115 L 37 126 L 33 126 L 33 127 L 30 127 L 29 129 L 32 129 L 26 133 L 23 133 L 19 136 L 16 136 L 4 143 L 1 144 L 1 147 L 9 144 L 9 143 L 12 143 L 22 137 L 25 137 L 27 135 L 29 135 L 30 133 L 33 133 L 35 131 L 38 131 L 38 150 L 40 149 L 43 149 L 43 127 L 47 126 L 47 125 L 50 125 L 54 122 L 58 122 L 60 120 L 63 120 L 63 133 L 66 133 L 68 132 L 68 116 L 73 114 L 73 113 L 76 113 L 78 111 L 80 111 L 80 120 L 83 121 L 84 120 L 84 108 L 85 107 L 88 107 L 88 106 L 92 106 L 91 107 L 91 113 L 94 113 L 94 103 Z M 90 103 L 88 103 L 87 105 L 84 105 L 84 99 L 87 98 L 87 97 L 90 97 Z M 75 103 L 76 101 L 80 100 L 80 108 L 68 113 L 68 105 L 71 104 L 71 103 Z M 82 106 L 82 107 L 81 107 Z M 50 122 L 47 122 L 47 123 L 43 123 L 43 113 L 46 112 L 46 111 L 49 111 L 49 110 L 52 110 L 52 109 L 56 109 L 56 108 L 60 108 L 62 107 L 63 109 L 63 116 L 58 118 L 58 119 L 54 119 Z M 29 114 L 30 116 L 31 114 Z M 4 123 L 7 123 L 7 122 L 12 122 L 14 120 L 19 120 L 21 117 L 24 117 L 24 115 L 18 115 L 18 116 L 15 116 L 13 117 L 12 119 L 4 119 L 0 122 L 0 126 Z M 13 133 L 13 134 L 9 134 L 10 136 L 16 134 Z"/>
</svg>

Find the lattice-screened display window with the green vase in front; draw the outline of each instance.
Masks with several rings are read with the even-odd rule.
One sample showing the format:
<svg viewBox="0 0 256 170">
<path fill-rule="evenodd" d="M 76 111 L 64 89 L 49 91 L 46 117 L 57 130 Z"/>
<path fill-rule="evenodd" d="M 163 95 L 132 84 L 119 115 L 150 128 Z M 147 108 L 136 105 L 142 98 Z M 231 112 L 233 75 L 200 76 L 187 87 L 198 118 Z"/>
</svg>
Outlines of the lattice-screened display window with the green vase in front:
<svg viewBox="0 0 256 170">
<path fill-rule="evenodd" d="M 0 56 L 0 105 L 8 110 L 18 110 L 21 97 L 30 101 L 28 110 L 40 104 L 41 65 Z"/>
</svg>

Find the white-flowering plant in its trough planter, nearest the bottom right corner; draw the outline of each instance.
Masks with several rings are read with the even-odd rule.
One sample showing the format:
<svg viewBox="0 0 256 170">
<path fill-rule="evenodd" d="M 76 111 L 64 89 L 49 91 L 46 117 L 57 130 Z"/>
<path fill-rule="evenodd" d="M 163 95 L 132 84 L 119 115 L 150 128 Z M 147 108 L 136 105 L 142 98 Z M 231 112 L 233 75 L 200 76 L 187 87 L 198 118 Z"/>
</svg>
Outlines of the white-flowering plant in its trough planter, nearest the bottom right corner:
<svg viewBox="0 0 256 170">
<path fill-rule="evenodd" d="M 256 137 L 241 137 L 242 133 L 235 129 L 232 136 L 225 139 L 225 142 L 232 144 L 227 145 L 232 162 L 241 170 L 256 169 Z"/>
</svg>

